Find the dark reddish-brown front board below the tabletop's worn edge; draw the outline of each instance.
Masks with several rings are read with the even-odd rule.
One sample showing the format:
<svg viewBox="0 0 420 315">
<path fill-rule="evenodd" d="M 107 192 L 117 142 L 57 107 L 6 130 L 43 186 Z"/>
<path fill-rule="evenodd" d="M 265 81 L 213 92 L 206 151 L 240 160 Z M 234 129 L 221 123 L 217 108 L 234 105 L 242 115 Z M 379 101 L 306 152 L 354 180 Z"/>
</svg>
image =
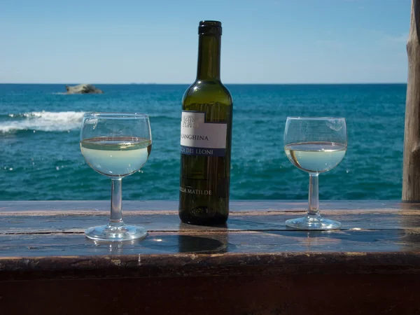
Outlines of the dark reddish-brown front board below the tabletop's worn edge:
<svg viewBox="0 0 420 315">
<path fill-rule="evenodd" d="M 6 281 L 7 315 L 419 314 L 419 275 L 302 274 Z M 25 300 L 22 300 L 25 297 Z"/>
</svg>

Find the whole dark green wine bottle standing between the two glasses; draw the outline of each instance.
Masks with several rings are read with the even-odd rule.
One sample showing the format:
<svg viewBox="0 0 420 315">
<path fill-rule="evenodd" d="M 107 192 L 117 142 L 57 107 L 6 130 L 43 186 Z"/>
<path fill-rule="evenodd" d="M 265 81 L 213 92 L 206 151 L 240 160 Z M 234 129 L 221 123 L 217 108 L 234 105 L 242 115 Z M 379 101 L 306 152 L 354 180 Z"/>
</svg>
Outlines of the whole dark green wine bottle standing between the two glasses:
<svg viewBox="0 0 420 315">
<path fill-rule="evenodd" d="M 182 100 L 179 217 L 216 225 L 229 216 L 232 96 L 221 83 L 222 24 L 198 27 L 197 79 Z"/>
</svg>

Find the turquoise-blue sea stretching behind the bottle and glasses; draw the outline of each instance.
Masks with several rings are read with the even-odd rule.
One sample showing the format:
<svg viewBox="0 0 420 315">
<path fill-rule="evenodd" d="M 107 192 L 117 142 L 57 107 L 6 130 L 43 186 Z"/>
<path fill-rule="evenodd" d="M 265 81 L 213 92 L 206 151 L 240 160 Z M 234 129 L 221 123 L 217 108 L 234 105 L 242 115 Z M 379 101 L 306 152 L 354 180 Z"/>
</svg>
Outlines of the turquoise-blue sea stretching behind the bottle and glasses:
<svg viewBox="0 0 420 315">
<path fill-rule="evenodd" d="M 188 85 L 0 84 L 0 200 L 109 200 L 111 180 L 80 153 L 83 113 L 147 113 L 153 149 L 123 179 L 123 200 L 178 200 L 181 99 Z M 226 85 L 232 94 L 232 200 L 306 200 L 308 174 L 283 150 L 287 116 L 346 118 L 344 160 L 320 174 L 320 200 L 399 200 L 405 84 Z"/>
</svg>

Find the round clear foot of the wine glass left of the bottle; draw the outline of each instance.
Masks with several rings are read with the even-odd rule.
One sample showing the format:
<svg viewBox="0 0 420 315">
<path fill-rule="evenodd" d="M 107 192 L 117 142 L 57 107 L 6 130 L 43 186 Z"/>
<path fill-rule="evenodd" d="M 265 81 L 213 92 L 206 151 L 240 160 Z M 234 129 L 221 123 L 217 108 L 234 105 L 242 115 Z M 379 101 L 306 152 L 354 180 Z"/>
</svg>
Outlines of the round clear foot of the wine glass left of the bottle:
<svg viewBox="0 0 420 315">
<path fill-rule="evenodd" d="M 95 241 L 132 241 L 133 239 L 144 239 L 147 231 L 141 226 L 121 225 L 113 227 L 102 225 L 88 228 L 85 230 L 85 235 Z"/>
</svg>

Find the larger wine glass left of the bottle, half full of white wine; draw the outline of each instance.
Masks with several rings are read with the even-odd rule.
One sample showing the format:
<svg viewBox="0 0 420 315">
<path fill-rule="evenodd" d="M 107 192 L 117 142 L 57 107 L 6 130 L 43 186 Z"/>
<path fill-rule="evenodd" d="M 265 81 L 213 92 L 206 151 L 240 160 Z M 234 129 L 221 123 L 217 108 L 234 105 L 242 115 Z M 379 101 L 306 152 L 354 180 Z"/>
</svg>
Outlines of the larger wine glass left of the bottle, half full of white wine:
<svg viewBox="0 0 420 315">
<path fill-rule="evenodd" d="M 85 235 L 99 241 L 125 241 L 146 237 L 140 226 L 123 222 L 121 184 L 146 163 L 151 154 L 149 118 L 139 113 L 85 113 L 80 150 L 87 164 L 111 179 L 111 218 L 107 225 L 88 228 Z"/>
</svg>

